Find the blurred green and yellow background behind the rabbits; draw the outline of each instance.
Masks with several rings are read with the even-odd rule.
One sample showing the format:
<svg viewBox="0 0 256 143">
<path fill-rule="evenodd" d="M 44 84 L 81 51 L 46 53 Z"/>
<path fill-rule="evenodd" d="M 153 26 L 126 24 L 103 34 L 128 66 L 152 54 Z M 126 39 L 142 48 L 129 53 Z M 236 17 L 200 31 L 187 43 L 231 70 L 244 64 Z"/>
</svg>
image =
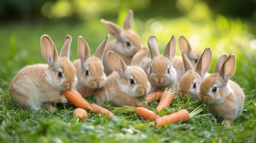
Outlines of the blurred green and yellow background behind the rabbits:
<svg viewBox="0 0 256 143">
<path fill-rule="evenodd" d="M 133 29 L 144 45 L 149 36 L 156 35 L 163 51 L 172 35 L 184 35 L 193 49 L 212 49 L 210 72 L 220 55 L 233 53 L 237 69 L 232 79 L 245 92 L 256 89 L 256 0 L 2 0 L 0 86 L 8 88 L 17 71 L 28 64 L 47 63 L 41 55 L 42 35 L 51 36 L 58 51 L 64 37 L 71 35 L 73 61 L 78 58 L 79 35 L 84 36 L 93 54 L 109 33 L 100 19 L 122 26 L 129 9 L 134 11 Z"/>
</svg>

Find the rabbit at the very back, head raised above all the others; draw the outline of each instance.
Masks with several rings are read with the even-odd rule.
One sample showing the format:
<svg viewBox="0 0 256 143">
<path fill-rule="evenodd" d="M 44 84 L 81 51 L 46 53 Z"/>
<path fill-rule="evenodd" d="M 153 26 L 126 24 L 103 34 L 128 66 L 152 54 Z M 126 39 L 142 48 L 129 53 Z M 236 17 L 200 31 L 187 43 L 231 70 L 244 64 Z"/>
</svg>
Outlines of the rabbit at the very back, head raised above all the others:
<svg viewBox="0 0 256 143">
<path fill-rule="evenodd" d="M 107 63 L 107 52 L 115 52 L 124 60 L 125 64 L 130 65 L 132 57 L 142 48 L 140 36 L 132 30 L 132 16 L 132 10 L 128 10 L 124 20 L 124 29 L 111 21 L 101 19 L 101 22 L 106 25 L 109 32 L 116 38 L 107 44 L 103 56 L 104 72 L 107 76 L 113 71 Z"/>
</svg>

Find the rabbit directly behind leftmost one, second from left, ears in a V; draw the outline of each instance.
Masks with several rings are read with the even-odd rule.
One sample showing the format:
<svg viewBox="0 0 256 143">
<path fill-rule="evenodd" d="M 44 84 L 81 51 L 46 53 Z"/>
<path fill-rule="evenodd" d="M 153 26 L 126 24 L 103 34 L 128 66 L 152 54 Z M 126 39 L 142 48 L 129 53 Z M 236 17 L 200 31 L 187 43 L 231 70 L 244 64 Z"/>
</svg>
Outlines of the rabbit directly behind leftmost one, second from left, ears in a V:
<svg viewBox="0 0 256 143">
<path fill-rule="evenodd" d="M 82 97 L 92 97 L 95 91 L 103 88 L 106 83 L 106 74 L 102 64 L 103 53 L 106 49 L 109 35 L 100 43 L 95 51 L 95 55 L 90 55 L 90 47 L 82 36 L 78 38 L 78 57 L 79 60 L 73 61 L 76 67 L 78 84 L 76 90 Z"/>
</svg>

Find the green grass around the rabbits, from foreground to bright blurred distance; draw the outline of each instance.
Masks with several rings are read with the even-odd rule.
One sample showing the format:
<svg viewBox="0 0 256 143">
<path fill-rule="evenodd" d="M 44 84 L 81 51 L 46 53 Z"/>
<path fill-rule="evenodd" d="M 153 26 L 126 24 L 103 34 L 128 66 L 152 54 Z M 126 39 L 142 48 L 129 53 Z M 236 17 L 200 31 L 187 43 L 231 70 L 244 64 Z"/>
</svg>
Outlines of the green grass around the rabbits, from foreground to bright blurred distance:
<svg viewBox="0 0 256 143">
<path fill-rule="evenodd" d="M 107 119 L 89 112 L 86 120 L 79 121 L 72 116 L 75 107 L 70 103 L 55 104 L 57 111 L 54 113 L 46 109 L 36 112 L 17 108 L 8 94 L 10 82 L 22 67 L 47 63 L 40 49 L 43 34 L 51 36 L 58 50 L 64 37 L 71 35 L 70 59 L 75 60 L 79 35 L 84 36 L 94 53 L 108 31 L 99 19 L 80 23 L 8 23 L 0 25 L 0 142 L 256 142 L 256 36 L 251 24 L 223 15 L 214 18 L 205 15 L 199 20 L 188 15 L 143 21 L 134 18 L 134 30 L 144 45 L 150 35 L 156 35 L 161 52 L 173 34 L 177 38 L 186 36 L 194 49 L 203 51 L 209 46 L 213 51 L 210 73 L 220 55 L 236 55 L 237 67 L 232 80 L 244 89 L 246 98 L 242 114 L 230 128 L 220 125 L 221 119 L 212 115 L 159 129 L 155 122 L 143 120 L 134 113 L 115 114 L 113 119 Z M 177 55 L 180 55 L 179 50 Z M 95 102 L 92 98 L 87 100 Z M 147 108 L 155 111 L 157 104 L 153 102 Z M 158 114 L 162 116 L 182 108 L 191 112 L 201 104 L 203 112 L 200 114 L 207 114 L 205 104 L 190 101 L 190 98 L 181 99 L 175 94 L 171 106 Z M 106 102 L 103 107 L 113 110 L 111 105 Z"/>
</svg>

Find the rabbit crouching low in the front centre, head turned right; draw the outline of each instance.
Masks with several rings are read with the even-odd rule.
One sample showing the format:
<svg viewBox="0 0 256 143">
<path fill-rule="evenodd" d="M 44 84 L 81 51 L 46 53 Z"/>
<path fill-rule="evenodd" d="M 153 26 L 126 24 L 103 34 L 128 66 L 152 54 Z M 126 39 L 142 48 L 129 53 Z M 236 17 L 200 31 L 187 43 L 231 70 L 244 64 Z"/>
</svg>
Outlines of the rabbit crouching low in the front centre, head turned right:
<svg viewBox="0 0 256 143">
<path fill-rule="evenodd" d="M 127 66 L 113 51 L 107 52 L 107 62 L 113 73 L 107 77 L 104 89 L 95 94 L 98 104 L 103 104 L 104 101 L 113 101 L 118 106 L 146 104 L 146 101 L 139 98 L 147 95 L 151 88 L 147 74 L 141 69 L 142 60 L 147 57 L 147 52 L 147 47 L 137 52 L 132 58 L 131 66 Z"/>
</svg>

